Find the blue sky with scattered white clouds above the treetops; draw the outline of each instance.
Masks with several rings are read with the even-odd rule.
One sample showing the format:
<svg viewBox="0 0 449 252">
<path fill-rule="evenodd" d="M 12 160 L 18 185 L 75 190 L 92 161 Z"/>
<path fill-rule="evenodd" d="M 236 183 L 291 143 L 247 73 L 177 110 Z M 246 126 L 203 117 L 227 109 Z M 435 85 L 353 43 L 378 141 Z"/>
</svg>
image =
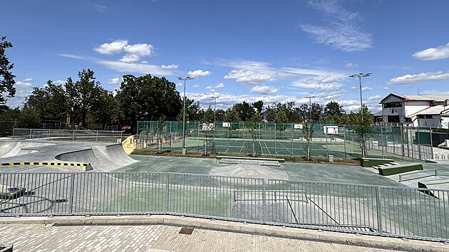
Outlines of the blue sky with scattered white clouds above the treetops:
<svg viewBox="0 0 449 252">
<path fill-rule="evenodd" d="M 107 90 L 165 76 L 202 107 L 336 100 L 372 112 L 388 93 L 449 93 L 449 1 L 34 1 L 1 3 L 21 106 L 47 80 L 91 68 Z"/>
</svg>

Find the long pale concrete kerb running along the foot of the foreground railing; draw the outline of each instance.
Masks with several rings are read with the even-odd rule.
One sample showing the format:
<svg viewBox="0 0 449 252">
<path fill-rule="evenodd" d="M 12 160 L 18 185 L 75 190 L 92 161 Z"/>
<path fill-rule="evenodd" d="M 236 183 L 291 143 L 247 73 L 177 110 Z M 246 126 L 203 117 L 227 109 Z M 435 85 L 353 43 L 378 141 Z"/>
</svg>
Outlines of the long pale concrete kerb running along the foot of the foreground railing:
<svg viewBox="0 0 449 252">
<path fill-rule="evenodd" d="M 317 231 L 263 224 L 244 224 L 232 221 L 219 221 L 201 218 L 152 215 L 152 216 L 33 216 L 2 217 L 0 224 L 45 224 L 45 225 L 167 225 L 210 229 L 237 233 L 251 233 L 264 236 L 277 236 L 301 240 L 321 241 L 327 243 L 344 243 L 354 246 L 371 246 L 376 248 L 402 249 L 411 251 L 448 251 L 449 245 L 435 241 L 402 240 L 373 235 L 356 235 L 333 231 Z"/>
</svg>

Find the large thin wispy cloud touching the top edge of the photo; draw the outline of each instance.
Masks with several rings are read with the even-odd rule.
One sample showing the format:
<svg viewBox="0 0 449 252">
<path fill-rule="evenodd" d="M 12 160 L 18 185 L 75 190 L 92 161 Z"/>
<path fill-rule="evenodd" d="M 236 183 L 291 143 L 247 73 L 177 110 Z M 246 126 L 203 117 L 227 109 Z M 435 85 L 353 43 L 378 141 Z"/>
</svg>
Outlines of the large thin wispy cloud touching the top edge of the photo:
<svg viewBox="0 0 449 252">
<path fill-rule="evenodd" d="M 346 11 L 337 1 L 309 1 L 309 5 L 325 14 L 330 21 L 325 26 L 301 24 L 316 42 L 333 46 L 341 51 L 363 51 L 373 47 L 370 33 L 358 27 L 358 13 Z"/>
</svg>

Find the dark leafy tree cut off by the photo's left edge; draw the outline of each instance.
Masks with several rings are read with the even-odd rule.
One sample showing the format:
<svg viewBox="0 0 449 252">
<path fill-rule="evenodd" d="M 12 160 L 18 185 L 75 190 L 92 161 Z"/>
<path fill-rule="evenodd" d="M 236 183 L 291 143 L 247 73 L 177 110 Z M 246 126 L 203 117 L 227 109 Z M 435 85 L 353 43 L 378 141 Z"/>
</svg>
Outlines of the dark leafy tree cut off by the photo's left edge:
<svg viewBox="0 0 449 252">
<path fill-rule="evenodd" d="M 8 108 L 4 93 L 7 93 L 6 97 L 8 98 L 16 95 L 16 88 L 14 88 L 16 75 L 11 73 L 14 64 L 9 62 L 9 58 L 5 55 L 5 49 L 12 47 L 12 43 L 6 41 L 6 37 L 0 38 L 0 113 Z"/>
</svg>

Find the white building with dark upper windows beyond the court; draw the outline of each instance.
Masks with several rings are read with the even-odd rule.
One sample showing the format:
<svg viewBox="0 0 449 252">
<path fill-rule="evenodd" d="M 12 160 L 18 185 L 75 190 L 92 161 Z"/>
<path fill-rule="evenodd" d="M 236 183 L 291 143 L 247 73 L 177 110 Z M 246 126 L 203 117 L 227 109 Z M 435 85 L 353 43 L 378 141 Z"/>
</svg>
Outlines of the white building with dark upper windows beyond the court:
<svg viewBox="0 0 449 252">
<path fill-rule="evenodd" d="M 381 120 L 389 124 L 449 127 L 449 95 L 395 95 L 381 100 Z"/>
</svg>

